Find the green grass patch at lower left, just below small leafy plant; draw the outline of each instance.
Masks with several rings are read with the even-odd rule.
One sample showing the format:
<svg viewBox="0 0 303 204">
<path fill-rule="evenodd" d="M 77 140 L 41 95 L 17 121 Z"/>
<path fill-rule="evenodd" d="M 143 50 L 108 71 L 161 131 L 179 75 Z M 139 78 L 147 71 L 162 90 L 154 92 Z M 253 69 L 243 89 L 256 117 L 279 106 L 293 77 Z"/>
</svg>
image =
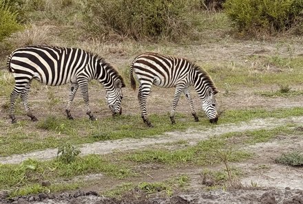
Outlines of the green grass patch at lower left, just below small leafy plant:
<svg viewBox="0 0 303 204">
<path fill-rule="evenodd" d="M 62 179 L 72 179 L 86 174 L 104 173 L 108 177 L 122 179 L 133 175 L 129 168 L 113 164 L 98 155 L 76 157 L 71 163 L 53 159 L 50 161 L 36 161 L 28 159 L 21 164 L 3 164 L 0 166 L 0 189 L 23 189 L 21 194 L 43 192 L 39 183 L 50 181 L 56 183 Z M 38 183 L 38 184 L 37 184 Z M 52 189 L 61 190 L 58 186 Z"/>
</svg>

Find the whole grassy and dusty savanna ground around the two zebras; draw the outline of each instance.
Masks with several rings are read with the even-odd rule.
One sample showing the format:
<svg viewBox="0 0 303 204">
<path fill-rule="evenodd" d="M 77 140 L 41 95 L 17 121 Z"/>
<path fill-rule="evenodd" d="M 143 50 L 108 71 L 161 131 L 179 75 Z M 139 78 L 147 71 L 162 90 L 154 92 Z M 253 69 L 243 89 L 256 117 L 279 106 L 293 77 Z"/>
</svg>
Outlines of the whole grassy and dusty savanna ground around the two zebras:
<svg viewBox="0 0 303 204">
<path fill-rule="evenodd" d="M 185 45 L 77 41 L 74 47 L 103 56 L 127 84 L 123 115 L 112 117 L 103 87 L 90 83 L 96 122 L 85 115 L 79 93 L 72 104 L 75 120 L 65 118 L 67 85 L 34 82 L 29 100 L 39 122 L 26 117 L 19 100 L 19 122 L 11 124 L 14 80 L 2 56 L 1 203 L 303 203 L 302 164 L 276 160 L 302 152 L 302 37 L 243 40 L 231 35 L 224 15 L 208 21 L 218 27 L 205 27 L 204 38 Z M 61 46 L 69 45 L 63 36 L 74 34 L 69 27 L 64 34 L 50 25 L 36 29 Z M 174 89 L 153 87 L 147 109 L 154 128 L 145 126 L 128 80 L 129 65 L 142 52 L 189 58 L 207 70 L 220 91 L 218 124 L 209 124 L 191 89 L 200 122 L 194 122 L 182 96 L 177 124 L 171 125 Z M 71 154 L 56 159 L 60 146 L 76 152 L 67 144 L 81 150 L 71 163 L 64 161 Z"/>
</svg>

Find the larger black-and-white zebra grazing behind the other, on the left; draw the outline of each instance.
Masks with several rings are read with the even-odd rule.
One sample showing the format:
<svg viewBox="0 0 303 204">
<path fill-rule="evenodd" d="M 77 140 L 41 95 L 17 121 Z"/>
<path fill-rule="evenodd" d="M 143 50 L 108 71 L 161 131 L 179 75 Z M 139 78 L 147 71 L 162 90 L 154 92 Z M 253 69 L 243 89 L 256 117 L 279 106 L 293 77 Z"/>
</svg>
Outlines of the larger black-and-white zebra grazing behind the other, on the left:
<svg viewBox="0 0 303 204">
<path fill-rule="evenodd" d="M 13 73 L 15 86 L 10 94 L 10 118 L 14 117 L 14 103 L 20 95 L 25 111 L 32 121 L 36 117 L 28 105 L 28 92 L 32 79 L 49 86 L 59 86 L 70 82 L 70 95 L 65 112 L 72 120 L 70 106 L 78 88 L 81 90 L 85 102 L 86 114 L 90 120 L 96 120 L 90 111 L 88 100 L 88 82 L 98 80 L 103 84 L 107 94 L 106 100 L 113 115 L 122 113 L 122 87 L 125 87 L 123 78 L 109 63 L 98 55 L 93 55 L 83 49 L 52 47 L 48 45 L 25 46 L 14 50 L 8 57 L 8 69 Z"/>
</svg>

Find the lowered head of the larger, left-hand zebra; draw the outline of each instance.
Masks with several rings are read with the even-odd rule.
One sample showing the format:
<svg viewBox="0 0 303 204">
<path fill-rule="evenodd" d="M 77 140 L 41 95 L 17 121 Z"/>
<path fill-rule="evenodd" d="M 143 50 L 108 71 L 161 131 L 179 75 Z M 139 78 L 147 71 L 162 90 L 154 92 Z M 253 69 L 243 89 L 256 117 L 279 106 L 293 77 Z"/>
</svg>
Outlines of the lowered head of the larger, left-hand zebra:
<svg viewBox="0 0 303 204">
<path fill-rule="evenodd" d="M 121 101 L 123 99 L 122 87 L 125 87 L 123 82 L 120 79 L 117 79 L 114 82 L 114 86 L 112 89 L 107 90 L 106 93 L 106 101 L 109 109 L 112 110 L 112 115 L 121 115 L 122 108 L 121 108 Z"/>
</svg>

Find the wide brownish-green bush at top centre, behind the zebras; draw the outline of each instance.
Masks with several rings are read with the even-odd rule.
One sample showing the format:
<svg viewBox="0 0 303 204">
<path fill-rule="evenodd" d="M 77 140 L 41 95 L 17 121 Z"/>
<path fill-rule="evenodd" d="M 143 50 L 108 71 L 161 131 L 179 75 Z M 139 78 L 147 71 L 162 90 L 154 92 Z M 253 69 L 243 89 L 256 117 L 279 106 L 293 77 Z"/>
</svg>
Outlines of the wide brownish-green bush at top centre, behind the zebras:
<svg viewBox="0 0 303 204">
<path fill-rule="evenodd" d="M 189 2 L 183 0 L 87 0 L 86 21 L 98 36 L 118 34 L 139 38 L 176 39 L 189 34 L 185 14 Z"/>
</svg>

